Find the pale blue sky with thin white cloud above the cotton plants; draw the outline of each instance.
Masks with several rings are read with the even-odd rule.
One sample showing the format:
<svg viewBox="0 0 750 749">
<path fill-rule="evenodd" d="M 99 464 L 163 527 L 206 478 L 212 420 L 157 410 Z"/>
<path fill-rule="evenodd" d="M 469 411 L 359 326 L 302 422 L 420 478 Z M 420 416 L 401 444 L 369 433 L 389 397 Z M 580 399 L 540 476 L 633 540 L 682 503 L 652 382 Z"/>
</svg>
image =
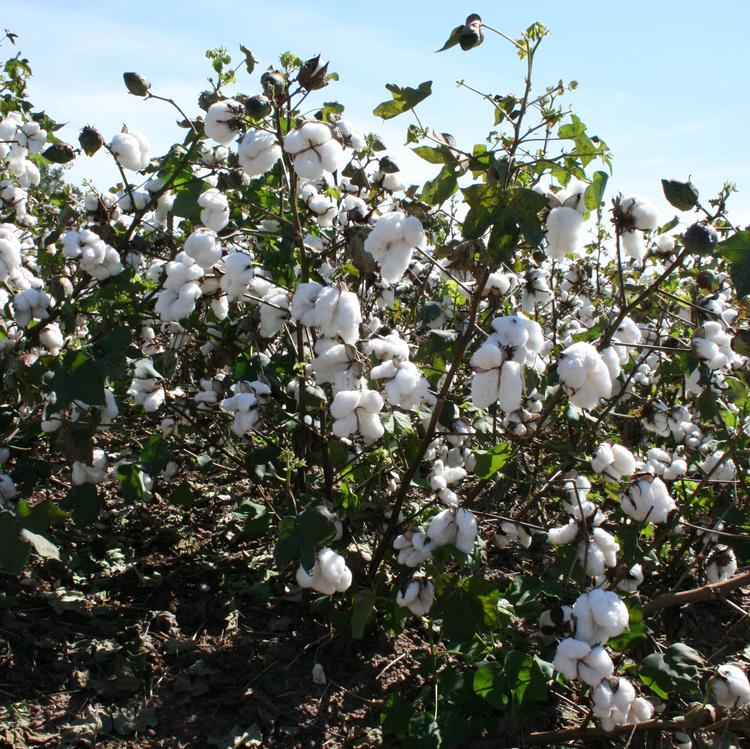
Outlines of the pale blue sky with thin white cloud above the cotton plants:
<svg viewBox="0 0 750 749">
<path fill-rule="evenodd" d="M 459 145 L 481 142 L 491 129 L 491 113 L 464 79 L 492 93 L 518 92 L 523 67 L 511 47 L 494 35 L 470 53 L 434 54 L 453 26 L 470 12 L 515 36 L 535 20 L 551 35 L 538 58 L 539 86 L 558 79 L 579 81 L 568 101 L 590 133 L 614 153 L 611 185 L 654 200 L 669 218 L 659 179 L 692 176 L 708 198 L 724 180 L 737 184 L 734 214 L 750 221 L 750 159 L 744 123 L 750 120 L 746 95 L 750 7 L 738 0 L 709 6 L 697 0 L 629 2 L 455 2 L 320 3 L 254 0 L 187 3 L 118 0 L 4 0 L 3 25 L 19 34 L 29 57 L 32 98 L 69 125 L 61 136 L 75 142 L 84 124 L 111 137 L 123 123 L 150 138 L 161 153 L 182 131 L 167 105 L 129 96 L 125 70 L 148 77 L 153 91 L 175 98 L 197 113 L 197 94 L 210 73 L 204 52 L 223 45 L 236 53 L 245 44 L 259 58 L 258 70 L 286 50 L 301 57 L 322 53 L 339 83 L 324 92 L 346 105 L 366 130 L 384 136 L 413 181 L 436 167 L 402 148 L 411 120 L 388 123 L 371 111 L 388 97 L 384 84 L 415 86 L 432 79 L 434 94 L 420 105 L 422 121 L 451 132 Z M 239 90 L 254 93 L 258 75 L 240 75 Z M 98 187 L 116 180 L 105 157 L 85 157 L 74 176 L 91 175 Z M 77 163 L 78 163 L 77 162 Z"/>
</svg>

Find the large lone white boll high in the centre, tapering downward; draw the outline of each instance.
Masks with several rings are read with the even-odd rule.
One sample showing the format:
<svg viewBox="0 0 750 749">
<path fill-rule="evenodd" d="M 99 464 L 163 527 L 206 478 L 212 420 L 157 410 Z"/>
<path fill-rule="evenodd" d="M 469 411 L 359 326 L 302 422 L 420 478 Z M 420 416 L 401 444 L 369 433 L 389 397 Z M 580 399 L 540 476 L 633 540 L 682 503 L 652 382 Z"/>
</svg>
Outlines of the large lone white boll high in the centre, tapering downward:
<svg viewBox="0 0 750 749">
<path fill-rule="evenodd" d="M 383 280 L 396 283 L 406 273 L 414 249 L 424 244 L 424 229 L 419 219 L 393 211 L 375 222 L 364 247 L 378 264 Z"/>
</svg>

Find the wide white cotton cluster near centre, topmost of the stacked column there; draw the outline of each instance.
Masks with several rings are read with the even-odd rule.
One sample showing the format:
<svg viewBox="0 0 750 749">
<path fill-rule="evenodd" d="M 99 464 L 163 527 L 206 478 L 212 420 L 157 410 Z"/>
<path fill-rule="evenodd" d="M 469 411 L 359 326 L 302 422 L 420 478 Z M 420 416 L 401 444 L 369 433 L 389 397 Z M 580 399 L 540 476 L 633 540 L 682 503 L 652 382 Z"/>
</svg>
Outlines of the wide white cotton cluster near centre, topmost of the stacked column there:
<svg viewBox="0 0 750 749">
<path fill-rule="evenodd" d="M 343 286 L 322 286 L 310 281 L 297 286 L 292 298 L 292 319 L 309 328 L 319 328 L 326 338 L 340 337 L 344 343 L 359 339 L 362 313 L 356 294 Z"/>
</svg>

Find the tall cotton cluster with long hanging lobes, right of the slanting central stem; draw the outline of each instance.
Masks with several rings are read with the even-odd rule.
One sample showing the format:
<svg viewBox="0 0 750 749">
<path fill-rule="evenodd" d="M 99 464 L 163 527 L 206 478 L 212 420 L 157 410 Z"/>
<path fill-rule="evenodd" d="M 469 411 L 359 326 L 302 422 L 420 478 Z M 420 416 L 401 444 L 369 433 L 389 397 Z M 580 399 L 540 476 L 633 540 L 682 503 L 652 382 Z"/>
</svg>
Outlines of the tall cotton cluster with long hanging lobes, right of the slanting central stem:
<svg viewBox="0 0 750 749">
<path fill-rule="evenodd" d="M 544 368 L 544 334 L 538 322 L 522 314 L 497 317 L 492 329 L 469 362 L 474 368 L 471 400 L 477 408 L 497 403 L 501 411 L 511 413 L 521 408 L 523 367 Z"/>
</svg>

